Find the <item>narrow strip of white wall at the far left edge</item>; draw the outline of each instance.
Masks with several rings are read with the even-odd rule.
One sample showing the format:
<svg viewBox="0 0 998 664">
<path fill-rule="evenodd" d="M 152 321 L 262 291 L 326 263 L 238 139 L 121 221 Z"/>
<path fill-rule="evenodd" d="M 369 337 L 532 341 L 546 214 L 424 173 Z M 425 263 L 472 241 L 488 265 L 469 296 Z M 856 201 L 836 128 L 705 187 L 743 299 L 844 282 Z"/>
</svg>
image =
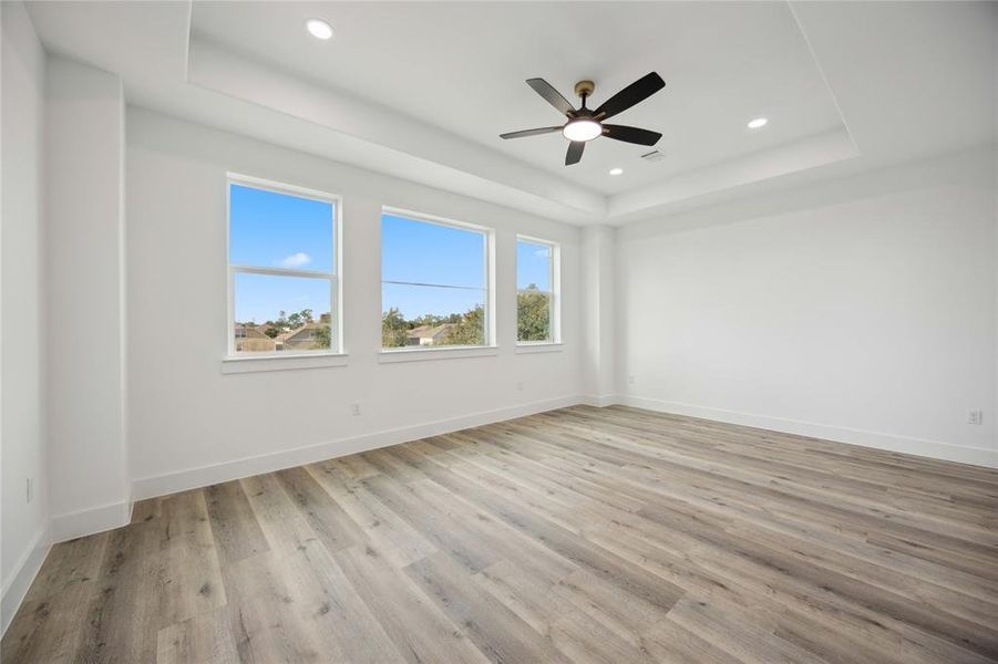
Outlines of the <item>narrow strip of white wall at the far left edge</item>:
<svg viewBox="0 0 998 664">
<path fill-rule="evenodd" d="M 2 606 L 7 629 L 44 554 L 48 481 L 43 423 L 44 304 L 42 153 L 44 52 L 20 2 L 0 4 L 2 22 Z M 25 481 L 34 485 L 28 504 Z"/>
</svg>

